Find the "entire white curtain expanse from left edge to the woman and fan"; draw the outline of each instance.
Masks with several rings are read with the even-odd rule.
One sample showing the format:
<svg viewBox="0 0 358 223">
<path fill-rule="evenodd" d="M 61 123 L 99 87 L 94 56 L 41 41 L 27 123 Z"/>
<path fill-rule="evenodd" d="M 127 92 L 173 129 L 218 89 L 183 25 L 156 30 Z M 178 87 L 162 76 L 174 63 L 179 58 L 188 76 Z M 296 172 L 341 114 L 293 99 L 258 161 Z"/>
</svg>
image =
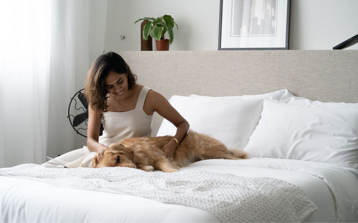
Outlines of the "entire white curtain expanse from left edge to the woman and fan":
<svg viewBox="0 0 358 223">
<path fill-rule="evenodd" d="M 106 5 L 0 0 L 0 168 L 78 149 L 67 108 L 102 53 Z"/>
</svg>

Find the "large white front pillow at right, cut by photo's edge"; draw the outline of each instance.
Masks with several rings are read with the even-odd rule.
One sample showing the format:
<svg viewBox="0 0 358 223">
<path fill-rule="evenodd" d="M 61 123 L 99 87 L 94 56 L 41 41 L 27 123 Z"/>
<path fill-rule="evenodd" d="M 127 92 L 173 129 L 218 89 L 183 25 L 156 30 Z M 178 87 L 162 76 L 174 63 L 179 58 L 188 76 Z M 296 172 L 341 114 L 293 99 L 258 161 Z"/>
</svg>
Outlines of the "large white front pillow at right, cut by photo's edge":
<svg viewBox="0 0 358 223">
<path fill-rule="evenodd" d="M 293 105 L 268 97 L 245 151 L 358 168 L 358 110 Z"/>
</svg>

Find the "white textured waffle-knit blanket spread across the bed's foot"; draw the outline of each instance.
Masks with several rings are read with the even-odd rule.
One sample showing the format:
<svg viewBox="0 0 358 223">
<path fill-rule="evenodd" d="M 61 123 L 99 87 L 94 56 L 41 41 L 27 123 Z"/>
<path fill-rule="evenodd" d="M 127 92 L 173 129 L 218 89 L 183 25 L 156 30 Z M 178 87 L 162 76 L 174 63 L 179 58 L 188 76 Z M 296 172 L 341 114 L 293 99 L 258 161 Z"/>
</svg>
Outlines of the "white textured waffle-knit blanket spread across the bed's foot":
<svg viewBox="0 0 358 223">
<path fill-rule="evenodd" d="M 301 222 L 317 210 L 299 187 L 265 177 L 199 171 L 149 173 L 124 167 L 44 168 L 36 164 L 2 168 L 0 175 L 187 205 L 206 210 L 222 222 Z"/>
</svg>

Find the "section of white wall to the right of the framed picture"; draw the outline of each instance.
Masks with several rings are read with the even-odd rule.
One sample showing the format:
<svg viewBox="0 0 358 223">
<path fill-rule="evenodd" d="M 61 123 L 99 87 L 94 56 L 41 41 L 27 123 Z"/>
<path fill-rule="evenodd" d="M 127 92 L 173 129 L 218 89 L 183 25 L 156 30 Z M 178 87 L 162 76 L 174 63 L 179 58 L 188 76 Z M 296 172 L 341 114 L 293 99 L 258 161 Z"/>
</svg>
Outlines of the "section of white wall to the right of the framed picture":
<svg viewBox="0 0 358 223">
<path fill-rule="evenodd" d="M 290 49 L 332 49 L 357 35 L 357 10 L 357 0 L 292 0 Z"/>
</svg>

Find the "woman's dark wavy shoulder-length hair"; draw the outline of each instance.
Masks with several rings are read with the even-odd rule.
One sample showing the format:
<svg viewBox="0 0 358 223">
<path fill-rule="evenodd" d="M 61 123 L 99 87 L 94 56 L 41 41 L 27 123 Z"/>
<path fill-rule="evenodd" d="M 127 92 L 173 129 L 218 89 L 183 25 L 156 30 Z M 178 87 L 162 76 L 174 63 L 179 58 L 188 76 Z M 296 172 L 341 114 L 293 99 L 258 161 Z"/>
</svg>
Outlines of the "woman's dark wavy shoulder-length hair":
<svg viewBox="0 0 358 223">
<path fill-rule="evenodd" d="M 97 57 L 86 74 L 84 96 L 86 96 L 88 105 L 98 113 L 104 113 L 108 108 L 106 105 L 108 92 L 105 88 L 105 79 L 111 71 L 127 74 L 128 89 L 132 89 L 137 81 L 137 76 L 131 72 L 127 63 L 117 53 L 106 52 Z"/>
</svg>

